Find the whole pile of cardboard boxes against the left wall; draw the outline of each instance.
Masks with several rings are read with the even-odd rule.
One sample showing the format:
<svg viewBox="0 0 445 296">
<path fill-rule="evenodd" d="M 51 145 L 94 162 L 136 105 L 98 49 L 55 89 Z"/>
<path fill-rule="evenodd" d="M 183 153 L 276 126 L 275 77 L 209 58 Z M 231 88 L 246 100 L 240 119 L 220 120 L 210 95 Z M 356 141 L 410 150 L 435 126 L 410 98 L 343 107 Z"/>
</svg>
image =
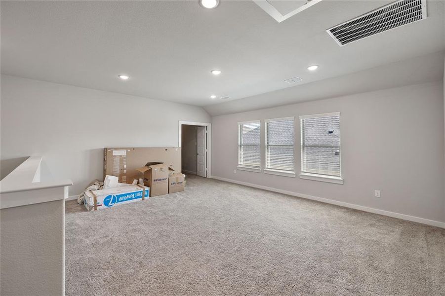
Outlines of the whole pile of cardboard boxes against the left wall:
<svg viewBox="0 0 445 296">
<path fill-rule="evenodd" d="M 84 204 L 89 211 L 184 191 L 185 186 L 180 147 L 105 148 L 104 178 L 107 175 L 118 177 L 119 186 L 85 191 Z M 143 185 L 130 185 L 141 179 Z"/>
</svg>

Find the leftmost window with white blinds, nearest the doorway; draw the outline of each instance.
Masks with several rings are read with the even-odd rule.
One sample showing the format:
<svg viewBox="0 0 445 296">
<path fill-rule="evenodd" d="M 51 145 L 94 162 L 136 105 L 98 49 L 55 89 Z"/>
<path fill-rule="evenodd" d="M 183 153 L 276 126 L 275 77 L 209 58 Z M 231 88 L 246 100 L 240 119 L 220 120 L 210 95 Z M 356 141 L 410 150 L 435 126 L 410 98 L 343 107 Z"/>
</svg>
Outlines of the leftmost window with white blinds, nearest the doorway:
<svg viewBox="0 0 445 296">
<path fill-rule="evenodd" d="M 238 123 L 238 164 L 260 167 L 260 121 Z"/>
</svg>

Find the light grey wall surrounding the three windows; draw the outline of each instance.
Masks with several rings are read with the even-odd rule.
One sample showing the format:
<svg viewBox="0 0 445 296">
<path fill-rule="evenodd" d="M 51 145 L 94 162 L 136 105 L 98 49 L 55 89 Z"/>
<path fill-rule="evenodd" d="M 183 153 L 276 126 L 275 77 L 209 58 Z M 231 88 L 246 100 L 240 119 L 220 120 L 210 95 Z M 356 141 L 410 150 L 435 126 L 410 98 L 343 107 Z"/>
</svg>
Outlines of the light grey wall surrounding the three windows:
<svg viewBox="0 0 445 296">
<path fill-rule="evenodd" d="M 212 175 L 445 222 L 442 84 L 438 81 L 214 116 Z M 302 180 L 298 175 L 234 174 L 237 122 L 295 116 L 295 168 L 299 173 L 298 116 L 335 111 L 341 112 L 344 185 Z M 374 189 L 381 190 L 381 198 L 374 197 Z"/>
</svg>

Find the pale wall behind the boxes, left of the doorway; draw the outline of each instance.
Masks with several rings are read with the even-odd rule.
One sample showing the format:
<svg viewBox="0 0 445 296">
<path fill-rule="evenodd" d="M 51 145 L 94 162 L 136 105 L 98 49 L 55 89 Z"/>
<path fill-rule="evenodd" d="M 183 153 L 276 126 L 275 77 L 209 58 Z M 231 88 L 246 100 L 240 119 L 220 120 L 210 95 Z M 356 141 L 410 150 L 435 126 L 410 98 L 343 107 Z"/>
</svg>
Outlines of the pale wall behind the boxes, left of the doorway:
<svg viewBox="0 0 445 296">
<path fill-rule="evenodd" d="M 103 177 L 104 147 L 177 147 L 179 120 L 210 122 L 200 107 L 8 75 L 0 115 L 1 159 L 43 155 L 70 195 Z"/>
</svg>

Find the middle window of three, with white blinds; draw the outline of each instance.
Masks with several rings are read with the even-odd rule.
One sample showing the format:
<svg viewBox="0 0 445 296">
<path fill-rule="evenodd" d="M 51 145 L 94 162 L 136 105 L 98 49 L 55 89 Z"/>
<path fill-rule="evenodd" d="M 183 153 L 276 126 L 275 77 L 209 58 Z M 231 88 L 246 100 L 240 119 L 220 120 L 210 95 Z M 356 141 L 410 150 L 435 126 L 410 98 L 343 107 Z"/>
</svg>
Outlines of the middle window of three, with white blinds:
<svg viewBox="0 0 445 296">
<path fill-rule="evenodd" d="M 266 122 L 266 169 L 294 171 L 294 117 Z"/>
</svg>

